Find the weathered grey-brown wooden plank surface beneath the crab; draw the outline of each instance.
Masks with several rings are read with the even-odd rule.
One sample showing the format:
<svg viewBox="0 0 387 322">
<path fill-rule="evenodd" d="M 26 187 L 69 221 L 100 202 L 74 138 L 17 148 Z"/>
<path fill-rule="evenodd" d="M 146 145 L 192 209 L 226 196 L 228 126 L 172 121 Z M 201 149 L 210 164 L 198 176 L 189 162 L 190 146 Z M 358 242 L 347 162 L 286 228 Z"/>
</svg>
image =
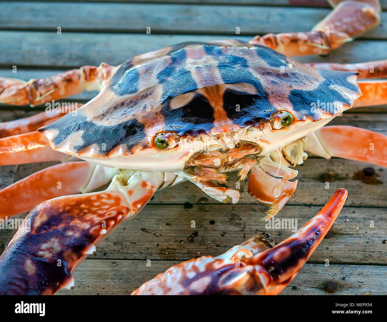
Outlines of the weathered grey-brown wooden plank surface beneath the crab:
<svg viewBox="0 0 387 322">
<path fill-rule="evenodd" d="M 36 79 L 81 65 L 118 65 L 134 55 L 182 41 L 238 37 L 248 40 L 255 34 L 307 31 L 330 11 L 320 0 L 168 0 L 170 4 L 164 5 L 161 0 L 94 2 L 0 2 L 0 75 Z M 196 4 L 189 5 L 192 3 Z M 387 0 L 382 1 L 382 7 L 387 9 Z M 384 21 L 386 14 L 382 13 Z M 57 34 L 58 26 L 62 27 L 62 34 Z M 147 26 L 151 27 L 150 35 L 145 34 Z M 241 28 L 240 36 L 235 34 L 236 26 Z M 382 25 L 327 57 L 296 60 L 385 59 L 386 28 Z M 14 65 L 17 73 L 12 72 Z M 84 92 L 64 101 L 85 102 L 95 94 Z M 0 122 L 42 109 L 24 106 L 10 110 L 2 105 L 0 108 Z M 331 124 L 354 125 L 387 134 L 386 108 L 352 110 Z M 5 187 L 51 164 L 2 166 L 0 185 Z M 298 166 L 298 188 L 278 218 L 297 219 L 300 228 L 336 188 L 345 187 L 349 197 L 331 229 L 332 236 L 322 241 L 309 264 L 281 294 L 330 294 L 325 291 L 329 281 L 339 285 L 339 291 L 333 293 L 336 295 L 386 294 L 387 170 L 374 167 L 375 184 L 354 178 L 367 166 L 320 158 L 309 158 Z M 235 188 L 236 181 L 236 175 L 231 174 L 228 186 Z M 219 255 L 262 231 L 271 232 L 276 242 L 292 234 L 289 229 L 265 228 L 265 222 L 260 220 L 265 206 L 250 197 L 247 182 L 241 184 L 240 191 L 237 205 L 209 199 L 190 183 L 159 191 L 139 216 L 118 226 L 97 248 L 96 255 L 77 268 L 75 289 L 59 294 L 128 294 L 181 260 Z M 191 228 L 192 220 L 195 228 Z M 14 232 L 1 231 L 0 252 Z M 146 259 L 151 259 L 151 267 L 146 266 Z M 329 260 L 329 267 L 324 265 L 325 260 Z"/>
</svg>

